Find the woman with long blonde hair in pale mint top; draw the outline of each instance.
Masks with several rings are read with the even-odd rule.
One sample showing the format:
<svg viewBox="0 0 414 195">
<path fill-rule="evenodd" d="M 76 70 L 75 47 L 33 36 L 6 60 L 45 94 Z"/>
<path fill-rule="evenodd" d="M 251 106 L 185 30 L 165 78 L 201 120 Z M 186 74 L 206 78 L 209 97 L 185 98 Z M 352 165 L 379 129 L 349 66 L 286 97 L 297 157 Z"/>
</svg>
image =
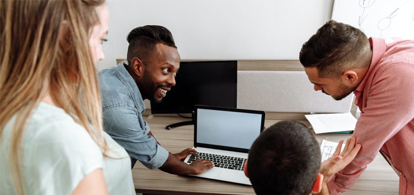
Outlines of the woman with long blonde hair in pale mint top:
<svg viewBox="0 0 414 195">
<path fill-rule="evenodd" d="M 102 130 L 104 1 L 1 1 L 0 17 L 0 194 L 135 194 Z"/>
</svg>

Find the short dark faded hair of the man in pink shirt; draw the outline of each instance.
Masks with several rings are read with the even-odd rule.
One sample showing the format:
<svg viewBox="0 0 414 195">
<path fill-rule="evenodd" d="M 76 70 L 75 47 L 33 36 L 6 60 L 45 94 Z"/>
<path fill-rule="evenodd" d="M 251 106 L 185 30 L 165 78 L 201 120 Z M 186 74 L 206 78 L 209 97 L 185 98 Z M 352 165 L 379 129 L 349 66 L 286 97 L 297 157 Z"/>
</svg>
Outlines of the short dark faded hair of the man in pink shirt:
<svg viewBox="0 0 414 195">
<path fill-rule="evenodd" d="M 316 67 L 319 77 L 335 78 L 350 68 L 370 65 L 370 42 L 359 29 L 327 21 L 303 44 L 299 60 L 304 67 Z"/>
</svg>

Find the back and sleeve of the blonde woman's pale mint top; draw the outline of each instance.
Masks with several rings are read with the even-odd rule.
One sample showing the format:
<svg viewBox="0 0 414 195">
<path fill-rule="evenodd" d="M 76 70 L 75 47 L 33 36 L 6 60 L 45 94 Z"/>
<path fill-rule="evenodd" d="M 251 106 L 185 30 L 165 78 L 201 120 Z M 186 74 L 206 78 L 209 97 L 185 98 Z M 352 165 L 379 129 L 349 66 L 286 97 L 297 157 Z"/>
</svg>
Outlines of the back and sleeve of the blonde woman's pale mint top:
<svg viewBox="0 0 414 195">
<path fill-rule="evenodd" d="M 9 123 L 6 126 L 10 133 L 8 138 L 15 121 Z M 2 140 L 7 139 L 2 137 Z M 6 142 L 2 147 L 10 144 Z M 28 118 L 21 149 L 25 187 L 39 194 L 70 194 L 85 176 L 104 167 L 102 152 L 87 130 L 64 110 L 45 103 Z M 6 161 L 4 166 L 9 166 L 11 162 Z"/>
</svg>

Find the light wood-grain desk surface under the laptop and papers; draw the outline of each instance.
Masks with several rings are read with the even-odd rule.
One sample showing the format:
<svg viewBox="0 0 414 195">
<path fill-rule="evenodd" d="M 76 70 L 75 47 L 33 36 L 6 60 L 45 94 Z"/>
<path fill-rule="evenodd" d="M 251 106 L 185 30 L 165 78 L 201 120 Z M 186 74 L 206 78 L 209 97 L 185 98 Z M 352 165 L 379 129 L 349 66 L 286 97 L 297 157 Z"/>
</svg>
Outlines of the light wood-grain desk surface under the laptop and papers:
<svg viewBox="0 0 414 195">
<path fill-rule="evenodd" d="M 186 119 L 155 116 L 152 119 L 146 118 L 145 120 L 149 123 L 154 137 L 168 151 L 178 153 L 185 148 L 193 147 L 193 125 L 178 127 L 170 131 L 165 130 L 166 125 L 185 121 Z M 278 121 L 266 120 L 265 126 L 269 127 Z M 307 121 L 301 122 L 309 126 Z M 319 143 L 322 139 L 338 142 L 350 136 L 350 134 L 319 134 L 316 138 Z M 194 176 L 176 176 L 162 172 L 159 169 L 149 170 L 139 162 L 132 169 L 132 177 L 137 193 L 161 195 L 255 194 L 251 186 Z M 388 165 L 388 162 L 378 154 L 355 185 L 345 194 L 398 195 L 398 176 Z"/>
</svg>

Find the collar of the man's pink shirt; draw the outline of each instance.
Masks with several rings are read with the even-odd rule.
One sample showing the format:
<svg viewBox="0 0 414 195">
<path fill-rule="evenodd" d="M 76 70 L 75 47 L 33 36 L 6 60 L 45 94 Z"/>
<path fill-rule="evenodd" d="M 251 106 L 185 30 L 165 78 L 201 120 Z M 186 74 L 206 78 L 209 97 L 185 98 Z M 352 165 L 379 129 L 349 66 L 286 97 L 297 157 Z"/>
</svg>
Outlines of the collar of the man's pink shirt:
<svg viewBox="0 0 414 195">
<path fill-rule="evenodd" d="M 378 39 L 378 38 L 370 38 L 370 45 L 372 48 L 372 58 L 370 68 L 368 69 L 367 74 L 365 75 L 364 79 L 359 83 L 356 87 L 354 94 L 356 99 L 359 99 L 361 96 L 361 92 L 364 91 L 365 84 L 367 84 L 368 78 L 370 77 L 372 71 L 378 64 L 379 60 L 381 59 L 382 55 L 384 55 L 387 45 L 385 43 L 385 39 Z"/>
</svg>

